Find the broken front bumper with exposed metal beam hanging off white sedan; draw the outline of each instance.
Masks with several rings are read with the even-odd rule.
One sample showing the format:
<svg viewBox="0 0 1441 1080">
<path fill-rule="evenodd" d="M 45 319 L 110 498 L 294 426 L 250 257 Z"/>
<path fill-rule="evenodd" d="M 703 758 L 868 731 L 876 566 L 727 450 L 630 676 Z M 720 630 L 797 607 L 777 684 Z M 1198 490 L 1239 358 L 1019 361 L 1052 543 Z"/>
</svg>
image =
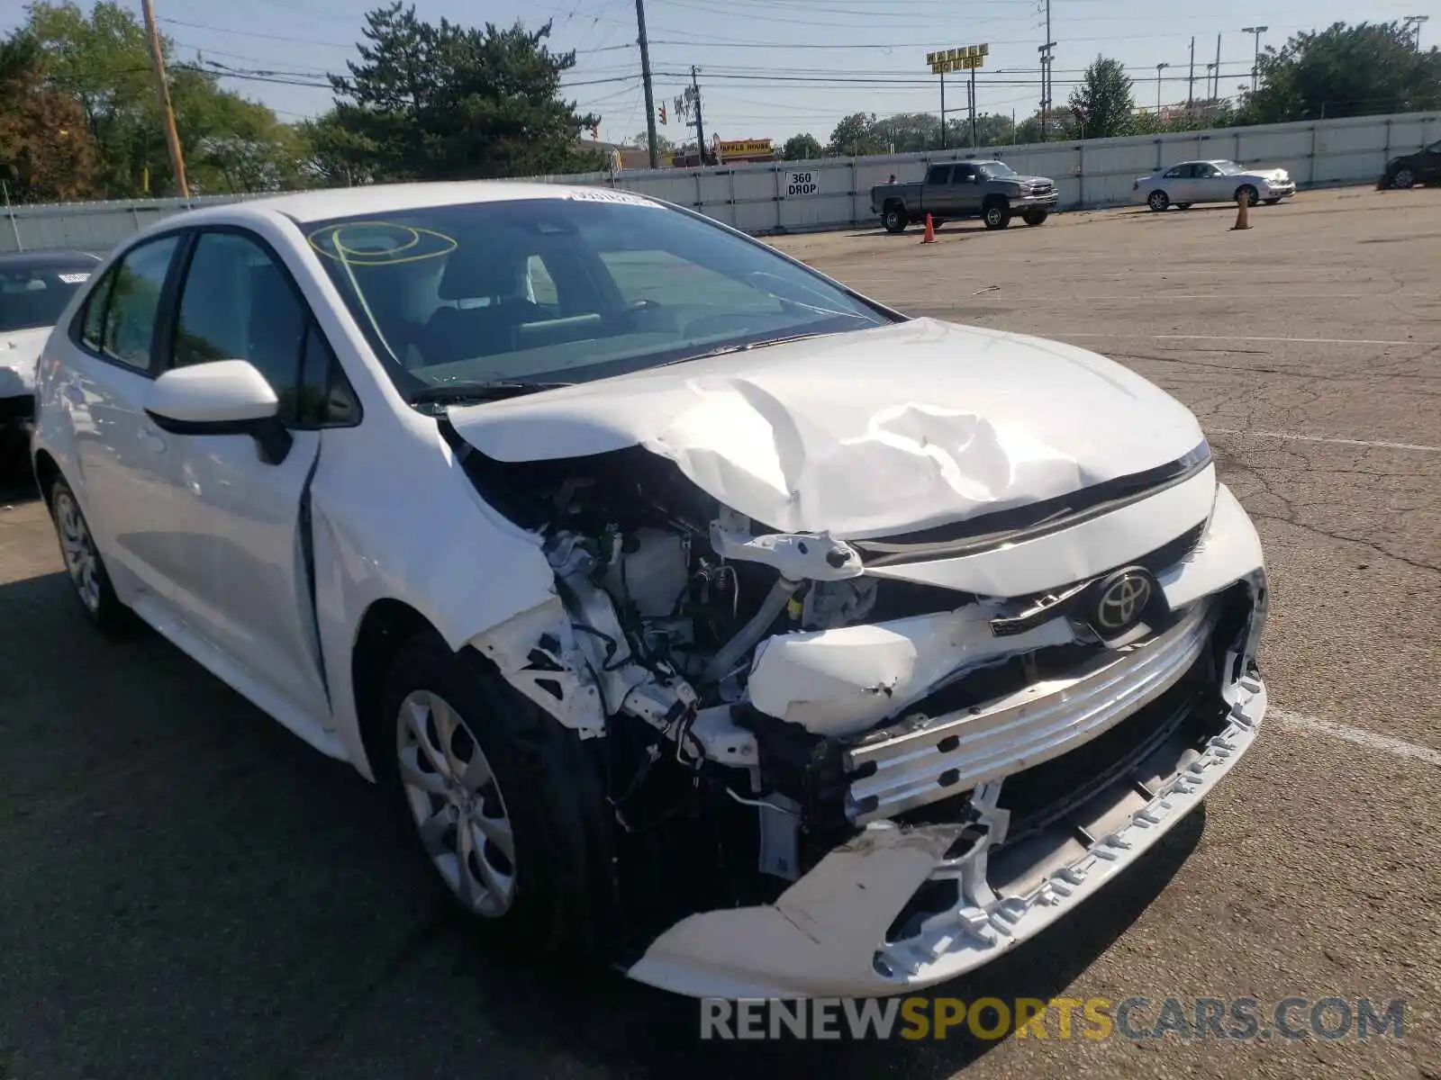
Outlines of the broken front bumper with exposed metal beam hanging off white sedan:
<svg viewBox="0 0 1441 1080">
<path fill-rule="evenodd" d="M 1265 713 L 1265 570 L 1226 488 L 1159 580 L 1176 622 L 1110 664 L 859 740 L 859 832 L 774 903 L 682 919 L 628 975 L 692 996 L 891 995 L 1075 910 L 1205 799 Z"/>
</svg>

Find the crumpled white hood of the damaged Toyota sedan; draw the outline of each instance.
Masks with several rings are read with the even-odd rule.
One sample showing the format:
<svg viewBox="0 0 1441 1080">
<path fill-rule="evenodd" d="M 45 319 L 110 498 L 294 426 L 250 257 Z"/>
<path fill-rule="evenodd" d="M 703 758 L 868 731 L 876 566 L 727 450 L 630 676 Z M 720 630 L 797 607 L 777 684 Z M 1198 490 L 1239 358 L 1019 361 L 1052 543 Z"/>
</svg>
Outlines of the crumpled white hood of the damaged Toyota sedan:
<svg viewBox="0 0 1441 1080">
<path fill-rule="evenodd" d="M 450 410 L 499 461 L 641 445 L 769 528 L 898 534 L 1065 495 L 1202 442 L 1094 353 L 929 318 Z"/>
</svg>

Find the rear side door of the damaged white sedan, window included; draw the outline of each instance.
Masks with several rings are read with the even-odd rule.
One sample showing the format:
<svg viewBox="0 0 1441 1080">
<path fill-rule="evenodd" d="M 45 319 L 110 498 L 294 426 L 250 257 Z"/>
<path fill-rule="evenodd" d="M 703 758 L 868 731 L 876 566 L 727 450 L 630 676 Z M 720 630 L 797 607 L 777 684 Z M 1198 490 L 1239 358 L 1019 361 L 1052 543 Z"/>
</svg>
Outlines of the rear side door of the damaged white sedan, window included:
<svg viewBox="0 0 1441 1080">
<path fill-rule="evenodd" d="M 173 436 L 146 416 L 144 403 L 182 239 L 169 233 L 125 252 L 97 282 L 75 323 L 55 336 L 68 377 L 48 408 L 63 409 L 73 433 L 78 475 L 69 480 L 127 603 L 137 593 L 163 603 L 174 599 L 167 585 Z"/>
</svg>

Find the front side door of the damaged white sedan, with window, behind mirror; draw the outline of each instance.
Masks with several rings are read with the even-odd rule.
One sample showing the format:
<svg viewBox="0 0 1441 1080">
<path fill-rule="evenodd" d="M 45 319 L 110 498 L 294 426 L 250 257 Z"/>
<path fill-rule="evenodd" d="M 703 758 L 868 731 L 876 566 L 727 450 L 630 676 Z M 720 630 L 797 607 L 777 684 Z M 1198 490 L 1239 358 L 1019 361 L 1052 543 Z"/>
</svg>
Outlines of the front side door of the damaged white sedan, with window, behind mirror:
<svg viewBox="0 0 1441 1080">
<path fill-rule="evenodd" d="M 245 435 L 176 435 L 174 588 L 187 621 L 269 696 L 329 716 L 311 602 L 308 485 L 323 432 L 359 406 L 281 258 L 242 229 L 196 235 L 164 367 L 248 360 L 271 383 L 293 444 L 269 464 Z"/>
</svg>

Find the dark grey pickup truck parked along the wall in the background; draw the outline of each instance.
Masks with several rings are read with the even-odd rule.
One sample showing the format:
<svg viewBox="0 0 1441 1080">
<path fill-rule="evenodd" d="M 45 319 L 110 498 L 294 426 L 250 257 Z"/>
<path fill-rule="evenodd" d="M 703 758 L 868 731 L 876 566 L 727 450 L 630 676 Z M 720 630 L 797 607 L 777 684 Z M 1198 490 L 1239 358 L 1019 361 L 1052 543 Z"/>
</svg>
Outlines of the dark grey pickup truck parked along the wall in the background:
<svg viewBox="0 0 1441 1080">
<path fill-rule="evenodd" d="M 1004 161 L 948 161 L 931 166 L 921 183 L 876 184 L 870 212 L 886 232 L 931 215 L 935 225 L 951 217 L 981 217 L 987 229 L 1004 229 L 1014 215 L 1040 225 L 1056 209 L 1056 184 L 1043 176 L 1020 176 Z"/>
</svg>

